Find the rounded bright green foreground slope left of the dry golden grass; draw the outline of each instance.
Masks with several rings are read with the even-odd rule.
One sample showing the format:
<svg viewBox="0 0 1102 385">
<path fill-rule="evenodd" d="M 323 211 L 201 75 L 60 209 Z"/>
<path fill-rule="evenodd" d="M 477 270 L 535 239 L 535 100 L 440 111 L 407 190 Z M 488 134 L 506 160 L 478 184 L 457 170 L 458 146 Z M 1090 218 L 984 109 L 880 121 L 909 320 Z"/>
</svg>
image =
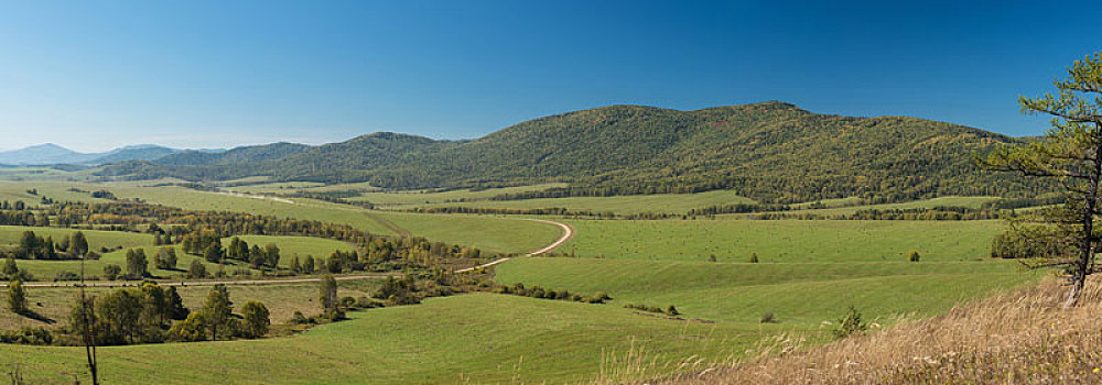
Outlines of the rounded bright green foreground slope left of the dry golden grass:
<svg viewBox="0 0 1102 385">
<path fill-rule="evenodd" d="M 105 383 L 573 383 L 633 346 L 662 359 L 720 359 L 782 330 L 475 294 L 353 314 L 290 338 L 102 348 L 99 362 Z M 0 362 L 20 365 L 32 383 L 72 383 L 72 373 L 87 381 L 82 360 L 75 348 L 0 345 Z"/>
</svg>

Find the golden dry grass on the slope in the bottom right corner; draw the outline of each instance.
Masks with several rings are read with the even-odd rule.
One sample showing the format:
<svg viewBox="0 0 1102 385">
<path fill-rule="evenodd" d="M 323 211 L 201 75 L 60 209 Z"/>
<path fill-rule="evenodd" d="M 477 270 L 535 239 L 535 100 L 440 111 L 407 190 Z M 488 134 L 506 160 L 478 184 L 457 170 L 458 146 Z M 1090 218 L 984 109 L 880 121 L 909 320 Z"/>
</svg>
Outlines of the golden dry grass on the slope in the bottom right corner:
<svg viewBox="0 0 1102 385">
<path fill-rule="evenodd" d="M 723 363 L 687 359 L 682 373 L 635 384 L 1067 384 L 1102 383 L 1102 279 L 1060 309 L 1065 287 L 1037 287 L 959 306 L 930 319 L 818 348 L 785 337 Z M 633 352 L 595 383 L 625 383 L 659 365 Z M 671 365 L 671 364 L 661 364 Z M 636 377 L 638 378 L 638 377 Z"/>
</svg>

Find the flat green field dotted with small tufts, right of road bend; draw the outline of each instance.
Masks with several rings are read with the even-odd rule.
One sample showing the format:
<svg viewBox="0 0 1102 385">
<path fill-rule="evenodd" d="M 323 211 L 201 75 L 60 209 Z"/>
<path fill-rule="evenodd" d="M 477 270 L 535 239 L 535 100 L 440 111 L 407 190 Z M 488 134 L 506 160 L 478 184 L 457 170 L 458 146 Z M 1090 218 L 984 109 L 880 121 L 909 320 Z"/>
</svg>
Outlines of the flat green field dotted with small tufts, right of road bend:
<svg viewBox="0 0 1102 385">
<path fill-rule="evenodd" d="M 985 258 L 1001 221 L 566 220 L 577 229 L 560 248 L 608 258 L 761 262 L 922 261 Z"/>
</svg>

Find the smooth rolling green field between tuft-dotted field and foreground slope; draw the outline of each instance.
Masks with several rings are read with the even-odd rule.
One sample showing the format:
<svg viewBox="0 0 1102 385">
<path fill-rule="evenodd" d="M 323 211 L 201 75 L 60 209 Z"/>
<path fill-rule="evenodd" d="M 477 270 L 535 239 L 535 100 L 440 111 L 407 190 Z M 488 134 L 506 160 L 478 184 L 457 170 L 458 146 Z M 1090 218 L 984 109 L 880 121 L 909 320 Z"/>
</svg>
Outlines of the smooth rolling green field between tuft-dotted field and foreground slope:
<svg viewBox="0 0 1102 385">
<path fill-rule="evenodd" d="M 676 305 L 687 317 L 754 322 L 765 312 L 807 327 L 849 306 L 866 317 L 929 316 L 961 300 L 1035 282 L 1006 261 L 749 264 L 520 258 L 497 267 L 503 284 L 593 294 L 613 304 Z"/>
</svg>

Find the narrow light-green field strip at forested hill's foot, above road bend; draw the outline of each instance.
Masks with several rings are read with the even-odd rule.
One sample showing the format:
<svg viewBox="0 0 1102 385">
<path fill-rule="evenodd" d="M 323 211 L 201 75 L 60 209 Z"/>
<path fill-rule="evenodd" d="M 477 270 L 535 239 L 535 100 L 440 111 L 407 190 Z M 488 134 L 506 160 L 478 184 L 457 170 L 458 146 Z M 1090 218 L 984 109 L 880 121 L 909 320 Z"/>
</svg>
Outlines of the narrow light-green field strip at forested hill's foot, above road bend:
<svg viewBox="0 0 1102 385">
<path fill-rule="evenodd" d="M 715 190 L 699 194 L 653 194 L 615 197 L 570 197 L 522 200 L 484 200 L 471 202 L 418 205 L 421 207 L 479 207 L 497 209 L 566 208 L 574 211 L 684 213 L 715 205 L 753 204 L 754 200 L 733 191 Z"/>
</svg>

